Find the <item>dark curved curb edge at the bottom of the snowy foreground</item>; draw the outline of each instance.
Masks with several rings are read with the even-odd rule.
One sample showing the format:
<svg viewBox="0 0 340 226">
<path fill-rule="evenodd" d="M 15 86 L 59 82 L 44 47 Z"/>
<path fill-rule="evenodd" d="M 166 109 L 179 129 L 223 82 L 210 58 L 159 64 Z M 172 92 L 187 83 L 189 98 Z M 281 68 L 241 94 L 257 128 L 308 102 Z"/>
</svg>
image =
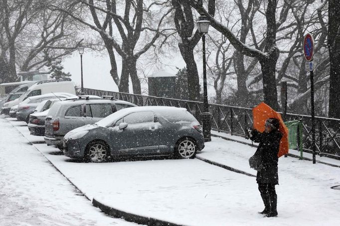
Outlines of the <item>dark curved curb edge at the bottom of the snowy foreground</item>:
<svg viewBox="0 0 340 226">
<path fill-rule="evenodd" d="M 110 215 L 114 218 L 121 218 L 124 219 L 125 221 L 128 222 L 134 222 L 139 225 L 148 225 L 148 226 L 183 226 L 183 225 L 176 225 L 174 223 L 158 220 L 155 218 L 148 218 L 148 217 L 143 217 L 135 214 L 130 214 L 109 206 L 106 206 L 97 200 L 93 198 L 92 200 L 92 205 L 94 207 L 99 208 L 101 211 L 103 211 L 105 214 Z"/>
</svg>

